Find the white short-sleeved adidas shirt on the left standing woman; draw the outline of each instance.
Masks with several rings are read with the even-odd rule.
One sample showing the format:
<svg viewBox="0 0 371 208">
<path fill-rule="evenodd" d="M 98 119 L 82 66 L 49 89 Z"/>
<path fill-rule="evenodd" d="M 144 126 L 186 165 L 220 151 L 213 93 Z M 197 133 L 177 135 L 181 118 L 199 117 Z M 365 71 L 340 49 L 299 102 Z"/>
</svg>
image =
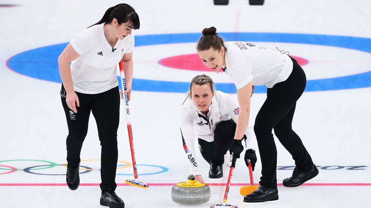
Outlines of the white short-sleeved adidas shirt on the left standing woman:
<svg viewBox="0 0 371 208">
<path fill-rule="evenodd" d="M 134 36 L 118 40 L 113 48 L 104 36 L 104 24 L 78 33 L 71 46 L 81 56 L 71 62 L 73 88 L 76 92 L 98 94 L 118 86 L 116 65 L 134 48 Z"/>
</svg>

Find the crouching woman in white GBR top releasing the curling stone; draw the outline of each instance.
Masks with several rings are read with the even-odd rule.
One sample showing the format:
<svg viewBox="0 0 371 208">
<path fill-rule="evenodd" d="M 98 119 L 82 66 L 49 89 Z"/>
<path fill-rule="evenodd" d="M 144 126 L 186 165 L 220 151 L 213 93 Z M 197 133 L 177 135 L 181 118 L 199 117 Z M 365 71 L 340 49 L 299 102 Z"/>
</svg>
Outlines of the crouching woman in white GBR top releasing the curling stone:
<svg viewBox="0 0 371 208">
<path fill-rule="evenodd" d="M 204 183 L 198 170 L 194 138 L 198 138 L 201 155 L 210 164 L 209 178 L 223 177 L 224 155 L 236 132 L 239 109 L 239 105 L 229 94 L 214 91 L 214 82 L 209 76 L 203 74 L 192 79 L 187 98 L 180 110 L 180 130 L 188 166 L 197 181 Z M 252 138 L 255 139 L 253 126 L 247 127 L 243 138 L 249 144 Z M 246 144 L 248 148 L 245 161 L 250 160 L 255 167 L 255 150 L 249 144 Z M 243 150 L 241 142 L 234 148 L 240 148 L 240 152 Z"/>
</svg>

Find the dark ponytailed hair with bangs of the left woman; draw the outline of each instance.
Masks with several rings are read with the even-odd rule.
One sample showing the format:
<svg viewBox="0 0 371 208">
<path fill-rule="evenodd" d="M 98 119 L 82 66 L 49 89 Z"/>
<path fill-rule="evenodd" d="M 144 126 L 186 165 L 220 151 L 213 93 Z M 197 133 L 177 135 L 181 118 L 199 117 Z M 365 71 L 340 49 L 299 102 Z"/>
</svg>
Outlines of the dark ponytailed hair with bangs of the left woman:
<svg viewBox="0 0 371 208">
<path fill-rule="evenodd" d="M 129 22 L 129 27 L 134 30 L 137 30 L 140 27 L 138 14 L 135 12 L 133 7 L 124 3 L 109 7 L 104 13 L 102 19 L 92 26 L 102 23 L 111 23 L 114 18 L 117 20 L 118 24 Z"/>
</svg>

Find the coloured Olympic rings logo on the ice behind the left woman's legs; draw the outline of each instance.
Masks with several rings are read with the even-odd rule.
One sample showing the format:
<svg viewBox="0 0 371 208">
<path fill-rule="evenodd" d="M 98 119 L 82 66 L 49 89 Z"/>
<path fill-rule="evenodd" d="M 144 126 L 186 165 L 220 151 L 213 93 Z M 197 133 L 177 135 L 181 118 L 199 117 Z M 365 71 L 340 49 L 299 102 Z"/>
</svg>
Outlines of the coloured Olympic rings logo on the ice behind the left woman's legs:
<svg viewBox="0 0 371 208">
<path fill-rule="evenodd" d="M 24 171 L 24 172 L 27 172 L 27 173 L 30 173 L 30 174 L 36 174 L 36 175 L 66 175 L 65 173 L 64 174 L 44 174 L 44 173 L 35 172 L 35 170 L 45 170 L 45 169 L 53 168 L 53 167 L 56 167 L 56 166 L 67 167 L 67 162 L 65 164 L 56 164 L 55 162 L 46 161 L 46 160 L 3 160 L 3 161 L 0 161 L 0 162 L 10 162 L 10 161 L 37 161 L 37 162 L 46 162 L 48 164 L 47 165 L 34 165 L 34 166 L 27 167 L 27 168 L 24 168 L 24 169 L 18 169 L 18 168 L 15 168 L 13 166 L 9 166 L 9 165 L 0 165 L 0 170 L 7 170 L 7 172 L 0 173 L 0 175 L 1 174 L 9 174 L 9 173 L 16 172 L 16 171 Z M 86 161 L 100 161 L 100 160 L 81 160 L 81 162 L 86 162 Z M 118 167 L 117 170 L 128 168 L 128 167 L 131 167 L 132 166 L 132 164 L 130 162 L 121 161 L 121 160 L 118 160 L 118 162 L 120 162 L 122 164 L 117 165 L 117 167 Z M 163 172 L 166 172 L 166 171 L 169 170 L 166 167 L 158 166 L 158 165 L 141 165 L 141 164 L 137 164 L 137 166 L 155 167 L 155 168 L 159 168 L 160 169 L 157 172 L 151 172 L 151 173 L 145 173 L 145 174 L 138 174 L 138 175 L 160 174 L 160 173 L 163 173 Z M 80 165 L 80 170 L 83 170 L 83 172 L 80 172 L 80 174 L 88 173 L 88 172 L 91 172 L 91 171 L 101 171 L 100 168 L 99 169 L 93 169 L 91 167 L 83 166 L 83 165 Z M 120 174 L 120 173 L 116 173 L 116 175 L 134 175 L 134 174 Z"/>
</svg>

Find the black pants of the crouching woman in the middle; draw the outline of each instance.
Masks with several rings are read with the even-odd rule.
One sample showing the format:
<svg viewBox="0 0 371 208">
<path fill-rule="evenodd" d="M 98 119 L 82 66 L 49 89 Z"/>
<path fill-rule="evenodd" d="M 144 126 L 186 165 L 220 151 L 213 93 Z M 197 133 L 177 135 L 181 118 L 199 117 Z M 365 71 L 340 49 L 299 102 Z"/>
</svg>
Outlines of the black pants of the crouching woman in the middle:
<svg viewBox="0 0 371 208">
<path fill-rule="evenodd" d="M 214 130 L 214 141 L 207 142 L 198 138 L 202 157 L 209 163 L 212 161 L 217 165 L 223 165 L 224 155 L 232 144 L 235 132 L 236 123 L 231 119 L 217 124 Z"/>
</svg>

